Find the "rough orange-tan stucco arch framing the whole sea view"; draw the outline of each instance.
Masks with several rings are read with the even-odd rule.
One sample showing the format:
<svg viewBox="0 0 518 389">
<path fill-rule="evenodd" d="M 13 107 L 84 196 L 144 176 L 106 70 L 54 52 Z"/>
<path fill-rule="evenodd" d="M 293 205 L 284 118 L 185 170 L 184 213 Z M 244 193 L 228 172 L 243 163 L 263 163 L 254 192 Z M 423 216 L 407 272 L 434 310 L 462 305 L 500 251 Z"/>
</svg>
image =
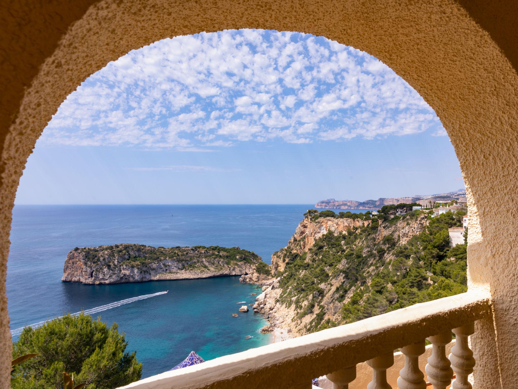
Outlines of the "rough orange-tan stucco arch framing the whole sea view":
<svg viewBox="0 0 518 389">
<path fill-rule="evenodd" d="M 364 50 L 392 67 L 435 109 L 469 191 L 469 287 L 490 288 L 494 299 L 494 327 L 479 324 L 475 352 L 484 358 L 478 359 L 477 387 L 515 384 L 518 232 L 510 216 L 518 209 L 518 3 L 47 3 L 12 2 L 0 15 L 2 386 L 9 382 L 11 347 L 5 295 L 11 210 L 27 157 L 57 107 L 85 78 L 132 49 L 176 35 L 247 27 L 323 35 Z"/>
</svg>

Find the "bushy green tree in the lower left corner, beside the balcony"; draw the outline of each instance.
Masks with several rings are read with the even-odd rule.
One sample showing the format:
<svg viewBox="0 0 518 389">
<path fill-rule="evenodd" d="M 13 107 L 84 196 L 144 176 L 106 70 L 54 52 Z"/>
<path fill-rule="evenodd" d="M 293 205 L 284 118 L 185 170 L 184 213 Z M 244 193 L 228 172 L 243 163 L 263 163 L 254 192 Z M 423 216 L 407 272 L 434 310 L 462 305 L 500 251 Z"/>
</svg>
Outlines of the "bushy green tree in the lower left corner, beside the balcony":
<svg viewBox="0 0 518 389">
<path fill-rule="evenodd" d="M 116 323 L 93 320 L 84 313 L 53 319 L 40 328 L 26 327 L 13 343 L 13 358 L 27 353 L 37 357 L 17 365 L 15 389 L 63 387 L 63 371 L 88 389 L 112 389 L 140 379 L 142 364 L 135 352 L 125 351 L 127 342 Z M 28 351 L 27 351 L 28 350 Z"/>
</svg>

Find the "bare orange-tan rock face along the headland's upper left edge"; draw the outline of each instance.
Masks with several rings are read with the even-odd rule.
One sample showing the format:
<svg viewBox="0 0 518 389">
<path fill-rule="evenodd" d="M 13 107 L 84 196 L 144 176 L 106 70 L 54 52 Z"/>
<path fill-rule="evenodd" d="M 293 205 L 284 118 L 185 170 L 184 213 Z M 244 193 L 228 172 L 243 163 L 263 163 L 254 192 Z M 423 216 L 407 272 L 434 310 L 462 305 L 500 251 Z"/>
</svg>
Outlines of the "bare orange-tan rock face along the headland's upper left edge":
<svg viewBox="0 0 518 389">
<path fill-rule="evenodd" d="M 273 274 L 277 271 L 284 271 L 285 263 L 292 253 L 307 253 L 313 247 L 315 240 L 328 231 L 337 235 L 342 232 L 348 233 L 348 230 L 368 226 L 369 224 L 370 220 L 333 217 L 321 217 L 312 221 L 309 216 L 306 216 L 297 226 L 288 245 L 271 255 L 271 271 Z"/>
</svg>

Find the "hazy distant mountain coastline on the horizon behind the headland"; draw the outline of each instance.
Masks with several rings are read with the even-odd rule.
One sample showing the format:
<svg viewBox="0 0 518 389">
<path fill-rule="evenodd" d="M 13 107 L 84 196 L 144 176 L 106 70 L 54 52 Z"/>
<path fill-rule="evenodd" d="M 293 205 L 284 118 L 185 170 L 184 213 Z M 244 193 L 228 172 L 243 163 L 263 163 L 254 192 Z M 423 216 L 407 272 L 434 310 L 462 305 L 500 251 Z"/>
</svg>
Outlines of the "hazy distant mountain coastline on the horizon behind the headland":
<svg viewBox="0 0 518 389">
<path fill-rule="evenodd" d="M 399 203 L 419 203 L 427 205 L 430 201 L 452 201 L 466 197 L 466 189 L 458 189 L 448 193 L 437 193 L 436 195 L 410 196 L 410 197 L 380 197 L 378 200 L 335 200 L 327 199 L 315 204 L 315 208 L 339 209 L 339 210 L 378 210 L 383 205 Z"/>
</svg>

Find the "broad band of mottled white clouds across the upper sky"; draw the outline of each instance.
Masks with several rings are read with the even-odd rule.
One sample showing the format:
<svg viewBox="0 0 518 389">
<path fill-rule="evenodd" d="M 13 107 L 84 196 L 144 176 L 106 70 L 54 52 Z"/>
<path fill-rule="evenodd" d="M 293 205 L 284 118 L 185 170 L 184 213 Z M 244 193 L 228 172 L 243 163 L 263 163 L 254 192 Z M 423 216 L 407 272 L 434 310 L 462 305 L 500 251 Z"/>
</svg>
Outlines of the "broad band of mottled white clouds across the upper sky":
<svg viewBox="0 0 518 389">
<path fill-rule="evenodd" d="M 68 96 L 40 143 L 211 151 L 427 130 L 447 135 L 421 96 L 367 53 L 240 30 L 164 39 L 110 62 Z"/>
</svg>

